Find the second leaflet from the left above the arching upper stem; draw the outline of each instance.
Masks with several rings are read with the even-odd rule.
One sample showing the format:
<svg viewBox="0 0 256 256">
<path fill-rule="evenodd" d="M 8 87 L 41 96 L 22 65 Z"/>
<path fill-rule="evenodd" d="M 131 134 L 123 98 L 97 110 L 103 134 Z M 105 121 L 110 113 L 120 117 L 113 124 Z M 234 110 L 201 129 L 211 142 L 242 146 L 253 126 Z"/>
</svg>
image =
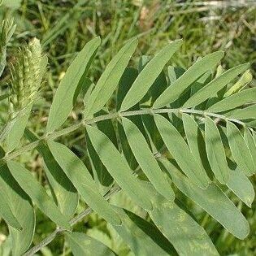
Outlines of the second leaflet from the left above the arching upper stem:
<svg viewBox="0 0 256 256">
<path fill-rule="evenodd" d="M 111 98 L 112 93 L 115 91 L 124 73 L 124 69 L 127 67 L 132 54 L 137 48 L 137 43 L 137 39 L 128 41 L 107 65 L 106 70 L 93 89 L 93 93 L 89 96 L 88 104 L 85 108 L 87 116 L 100 111 L 109 98 Z"/>
</svg>

